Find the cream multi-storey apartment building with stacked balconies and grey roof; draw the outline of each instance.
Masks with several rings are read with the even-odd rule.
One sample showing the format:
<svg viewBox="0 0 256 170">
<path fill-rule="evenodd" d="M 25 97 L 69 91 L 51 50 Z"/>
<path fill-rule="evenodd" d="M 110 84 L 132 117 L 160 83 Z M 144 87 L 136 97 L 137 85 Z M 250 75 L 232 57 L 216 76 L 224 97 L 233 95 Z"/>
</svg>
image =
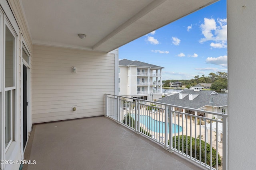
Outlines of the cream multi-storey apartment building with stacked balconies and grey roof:
<svg viewBox="0 0 256 170">
<path fill-rule="evenodd" d="M 150 101 L 162 98 L 162 68 L 141 61 L 120 60 L 119 95 Z"/>
</svg>

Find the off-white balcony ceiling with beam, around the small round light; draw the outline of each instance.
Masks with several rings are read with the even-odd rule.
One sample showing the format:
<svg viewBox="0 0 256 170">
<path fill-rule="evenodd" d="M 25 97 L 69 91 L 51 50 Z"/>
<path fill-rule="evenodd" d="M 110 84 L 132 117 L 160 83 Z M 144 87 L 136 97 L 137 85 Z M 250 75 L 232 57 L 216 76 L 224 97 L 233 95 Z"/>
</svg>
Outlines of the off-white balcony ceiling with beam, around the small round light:
<svg viewBox="0 0 256 170">
<path fill-rule="evenodd" d="M 32 43 L 109 52 L 218 0 L 20 1 Z"/>
</svg>

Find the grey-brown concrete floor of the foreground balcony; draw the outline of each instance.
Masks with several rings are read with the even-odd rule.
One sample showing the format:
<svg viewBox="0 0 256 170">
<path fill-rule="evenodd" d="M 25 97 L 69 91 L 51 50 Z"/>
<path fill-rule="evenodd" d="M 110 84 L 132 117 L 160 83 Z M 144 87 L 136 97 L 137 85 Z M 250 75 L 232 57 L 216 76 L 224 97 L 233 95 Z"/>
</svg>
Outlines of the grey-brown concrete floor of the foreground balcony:
<svg viewBox="0 0 256 170">
<path fill-rule="evenodd" d="M 36 124 L 23 170 L 198 170 L 107 117 Z"/>
</svg>

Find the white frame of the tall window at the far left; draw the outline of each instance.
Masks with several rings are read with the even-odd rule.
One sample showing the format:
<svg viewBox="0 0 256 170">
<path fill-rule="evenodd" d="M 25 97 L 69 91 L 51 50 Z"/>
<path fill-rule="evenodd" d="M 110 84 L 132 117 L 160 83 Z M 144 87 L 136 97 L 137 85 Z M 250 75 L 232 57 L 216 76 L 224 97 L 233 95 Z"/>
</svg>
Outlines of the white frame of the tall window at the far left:
<svg viewBox="0 0 256 170">
<path fill-rule="evenodd" d="M 18 24 L 14 18 L 14 15 L 12 13 L 12 10 L 10 9 L 10 6 L 7 2 L 7 0 L 0 0 L 0 160 L 14 160 L 16 158 L 16 154 L 14 152 L 17 152 L 17 146 L 19 145 L 17 139 L 18 139 L 18 117 L 17 113 L 19 112 L 18 108 L 18 94 L 19 89 L 17 88 L 18 83 L 18 33 L 19 33 L 19 27 Z M 8 29 L 11 31 L 11 33 L 14 35 L 14 86 L 12 87 L 5 87 L 5 27 L 8 27 Z M 15 89 L 15 90 L 14 90 Z M 10 143 L 8 147 L 5 147 L 5 93 L 8 90 L 15 91 L 14 94 L 14 120 L 13 123 L 13 141 Z M 20 133 L 19 133 L 20 134 Z M 0 164 L 0 169 L 4 169 L 8 166 L 7 164 Z"/>
</svg>

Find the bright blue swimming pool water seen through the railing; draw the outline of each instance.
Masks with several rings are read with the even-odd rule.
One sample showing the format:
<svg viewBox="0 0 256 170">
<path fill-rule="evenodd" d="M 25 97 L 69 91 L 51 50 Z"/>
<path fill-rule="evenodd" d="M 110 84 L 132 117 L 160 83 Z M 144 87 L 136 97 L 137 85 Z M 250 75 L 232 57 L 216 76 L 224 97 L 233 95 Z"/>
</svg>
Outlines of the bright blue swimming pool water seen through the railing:
<svg viewBox="0 0 256 170">
<path fill-rule="evenodd" d="M 134 114 L 131 114 L 131 116 L 135 118 Z M 145 125 L 148 129 L 157 133 L 163 133 L 165 131 L 165 122 L 154 120 L 152 119 L 152 117 L 147 115 L 140 115 L 140 123 Z M 167 125 L 169 127 L 169 123 Z M 172 124 L 172 133 L 178 133 L 181 131 L 182 131 L 181 126 Z M 167 132 L 169 133 L 169 128 L 167 129 Z"/>
</svg>

